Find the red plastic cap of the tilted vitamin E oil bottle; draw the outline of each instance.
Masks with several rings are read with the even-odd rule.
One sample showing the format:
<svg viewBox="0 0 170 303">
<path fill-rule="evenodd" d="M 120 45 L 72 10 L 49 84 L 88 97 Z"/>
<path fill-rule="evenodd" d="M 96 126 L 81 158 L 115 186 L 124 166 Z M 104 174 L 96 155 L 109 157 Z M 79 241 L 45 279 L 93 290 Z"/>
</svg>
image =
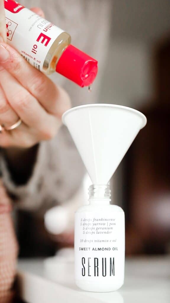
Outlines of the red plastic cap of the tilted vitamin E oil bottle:
<svg viewBox="0 0 170 303">
<path fill-rule="evenodd" d="M 97 61 L 73 45 L 68 45 L 57 63 L 56 72 L 81 87 L 88 86 L 96 78 Z"/>
</svg>

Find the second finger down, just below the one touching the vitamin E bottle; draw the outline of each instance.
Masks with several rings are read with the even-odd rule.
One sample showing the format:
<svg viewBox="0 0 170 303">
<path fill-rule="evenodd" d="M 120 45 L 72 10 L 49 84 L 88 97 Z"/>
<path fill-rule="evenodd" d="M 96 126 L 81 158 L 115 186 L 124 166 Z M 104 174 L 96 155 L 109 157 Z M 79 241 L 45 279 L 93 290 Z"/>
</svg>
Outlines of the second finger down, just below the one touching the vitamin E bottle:
<svg viewBox="0 0 170 303">
<path fill-rule="evenodd" d="M 51 137 L 51 132 L 56 133 L 56 129 L 60 125 L 59 119 L 49 115 L 36 98 L 23 88 L 5 69 L 0 71 L 0 84 L 9 104 L 22 122 L 33 128 L 35 132 L 40 132 L 44 139 L 45 137 Z"/>
</svg>

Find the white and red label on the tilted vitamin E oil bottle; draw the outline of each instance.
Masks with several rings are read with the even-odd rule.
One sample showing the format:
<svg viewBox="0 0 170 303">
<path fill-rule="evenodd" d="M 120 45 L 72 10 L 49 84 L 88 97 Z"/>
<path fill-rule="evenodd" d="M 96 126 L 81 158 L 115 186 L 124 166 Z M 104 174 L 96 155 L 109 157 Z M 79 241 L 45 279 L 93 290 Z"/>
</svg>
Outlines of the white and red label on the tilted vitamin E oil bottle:
<svg viewBox="0 0 170 303">
<path fill-rule="evenodd" d="M 4 0 L 4 6 L 8 44 L 42 71 L 51 45 L 64 31 L 13 0 Z"/>
</svg>

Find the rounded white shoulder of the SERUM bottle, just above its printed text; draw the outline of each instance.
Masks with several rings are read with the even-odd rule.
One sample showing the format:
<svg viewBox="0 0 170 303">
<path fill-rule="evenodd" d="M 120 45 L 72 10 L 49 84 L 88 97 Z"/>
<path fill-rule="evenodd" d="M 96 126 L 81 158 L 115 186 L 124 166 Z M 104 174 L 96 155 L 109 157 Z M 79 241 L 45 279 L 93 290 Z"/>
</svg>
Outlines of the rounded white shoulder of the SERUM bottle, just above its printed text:
<svg viewBox="0 0 170 303">
<path fill-rule="evenodd" d="M 108 204 L 108 205 L 92 205 L 92 204 L 88 204 L 88 205 L 83 205 L 80 206 L 76 213 L 79 212 L 84 212 L 84 211 L 89 211 L 89 212 L 93 212 L 93 211 L 114 211 L 114 212 L 122 212 L 124 213 L 123 209 L 118 206 L 118 205 L 114 205 L 114 204 Z"/>
</svg>

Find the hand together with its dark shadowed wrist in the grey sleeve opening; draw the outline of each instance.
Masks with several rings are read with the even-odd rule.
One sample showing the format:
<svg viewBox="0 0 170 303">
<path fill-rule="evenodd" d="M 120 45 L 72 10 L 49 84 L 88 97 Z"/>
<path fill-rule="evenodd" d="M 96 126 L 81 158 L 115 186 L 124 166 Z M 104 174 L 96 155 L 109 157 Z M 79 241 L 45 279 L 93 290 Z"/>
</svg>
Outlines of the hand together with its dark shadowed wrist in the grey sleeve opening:
<svg viewBox="0 0 170 303">
<path fill-rule="evenodd" d="M 39 8 L 34 12 L 43 16 Z M 15 185 L 31 178 L 40 142 L 52 139 L 70 107 L 67 93 L 6 44 L 5 13 L 0 0 L 0 147 L 1 168 Z M 8 131 L 19 119 L 18 128 Z"/>
</svg>

